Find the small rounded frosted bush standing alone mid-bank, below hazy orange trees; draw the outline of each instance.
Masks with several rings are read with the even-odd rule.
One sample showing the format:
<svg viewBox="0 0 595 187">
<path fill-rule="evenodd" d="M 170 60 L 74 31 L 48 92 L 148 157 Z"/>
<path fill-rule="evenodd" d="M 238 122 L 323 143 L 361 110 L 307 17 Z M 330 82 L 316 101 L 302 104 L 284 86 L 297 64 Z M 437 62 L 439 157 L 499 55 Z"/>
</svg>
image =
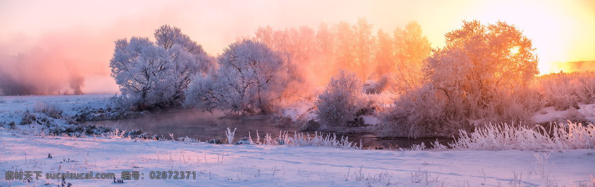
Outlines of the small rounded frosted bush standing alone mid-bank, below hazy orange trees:
<svg viewBox="0 0 595 187">
<path fill-rule="evenodd" d="M 355 73 L 340 70 L 314 102 L 322 126 L 346 126 L 361 109 L 364 88 Z"/>
</svg>

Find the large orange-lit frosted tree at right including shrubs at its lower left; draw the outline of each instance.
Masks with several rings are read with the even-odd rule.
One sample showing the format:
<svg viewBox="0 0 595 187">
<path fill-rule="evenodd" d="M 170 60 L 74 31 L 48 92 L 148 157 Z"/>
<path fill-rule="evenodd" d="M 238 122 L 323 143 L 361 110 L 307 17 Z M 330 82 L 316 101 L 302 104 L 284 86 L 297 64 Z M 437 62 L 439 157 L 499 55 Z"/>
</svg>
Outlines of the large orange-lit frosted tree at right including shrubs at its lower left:
<svg viewBox="0 0 595 187">
<path fill-rule="evenodd" d="M 505 22 L 463 23 L 424 60 L 422 85 L 384 110 L 381 136 L 448 135 L 478 120 L 531 121 L 536 95 L 527 88 L 539 73 L 531 40 Z"/>
</svg>

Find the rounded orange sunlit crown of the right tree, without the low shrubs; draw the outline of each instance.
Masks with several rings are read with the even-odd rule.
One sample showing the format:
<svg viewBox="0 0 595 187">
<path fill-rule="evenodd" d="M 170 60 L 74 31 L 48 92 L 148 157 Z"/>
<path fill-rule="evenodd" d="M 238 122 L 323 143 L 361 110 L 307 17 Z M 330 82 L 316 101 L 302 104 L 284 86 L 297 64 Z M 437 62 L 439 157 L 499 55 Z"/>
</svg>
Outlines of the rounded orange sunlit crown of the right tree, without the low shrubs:
<svg viewBox="0 0 595 187">
<path fill-rule="evenodd" d="M 463 23 L 445 35 L 444 48 L 432 50 L 424 71 L 449 101 L 461 100 L 466 116 L 481 118 L 494 97 L 515 94 L 539 74 L 537 56 L 531 40 L 513 25 Z"/>
</svg>

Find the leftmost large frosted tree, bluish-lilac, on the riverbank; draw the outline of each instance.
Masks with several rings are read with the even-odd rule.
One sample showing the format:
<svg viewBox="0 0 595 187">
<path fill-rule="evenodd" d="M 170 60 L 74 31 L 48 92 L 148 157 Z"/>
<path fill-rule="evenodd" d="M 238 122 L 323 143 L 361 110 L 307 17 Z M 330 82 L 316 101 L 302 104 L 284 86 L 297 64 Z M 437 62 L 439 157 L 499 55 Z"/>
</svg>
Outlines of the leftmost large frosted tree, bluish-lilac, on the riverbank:
<svg viewBox="0 0 595 187">
<path fill-rule="evenodd" d="M 109 67 L 121 92 L 115 100 L 122 107 L 145 110 L 178 106 L 185 98 L 190 78 L 215 66 L 202 46 L 177 27 L 159 27 L 155 39 L 152 42 L 133 36 L 115 41 Z"/>
</svg>

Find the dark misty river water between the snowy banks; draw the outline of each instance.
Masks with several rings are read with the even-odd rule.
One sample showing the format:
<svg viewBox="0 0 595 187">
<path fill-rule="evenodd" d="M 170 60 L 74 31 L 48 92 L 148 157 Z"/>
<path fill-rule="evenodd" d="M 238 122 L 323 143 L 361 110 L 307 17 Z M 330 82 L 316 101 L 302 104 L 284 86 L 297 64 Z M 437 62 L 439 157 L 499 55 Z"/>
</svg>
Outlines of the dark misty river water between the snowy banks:
<svg viewBox="0 0 595 187">
<path fill-rule="evenodd" d="M 275 126 L 269 120 L 262 119 L 229 119 L 224 118 L 223 113 L 207 113 L 201 111 L 177 111 L 175 113 L 152 114 L 150 116 L 138 117 L 133 119 L 121 120 L 101 120 L 101 121 L 86 121 L 85 124 L 94 124 L 95 126 L 118 127 L 120 129 L 140 129 L 143 132 L 149 132 L 154 135 L 164 136 L 171 139 L 170 134 L 174 138 L 179 137 L 195 138 L 201 141 L 208 141 L 211 139 L 226 139 L 227 127 L 235 132 L 235 140 L 240 138 L 252 136 L 256 140 L 256 133 L 260 135 L 261 139 L 268 133 L 274 138 L 279 136 L 280 132 L 288 132 L 293 136 L 294 132 L 300 133 L 297 127 L 281 127 Z M 314 132 L 308 132 L 313 134 Z M 337 139 L 342 135 L 337 135 Z M 370 133 L 355 133 L 349 135 L 349 141 L 358 143 L 362 142 L 362 149 L 409 149 L 412 145 L 418 145 L 424 142 L 427 148 L 430 148 L 430 142 L 436 141 L 437 138 L 393 138 L 393 139 L 378 139 L 375 135 Z M 438 138 L 441 143 L 452 142 L 449 138 Z"/>
</svg>

